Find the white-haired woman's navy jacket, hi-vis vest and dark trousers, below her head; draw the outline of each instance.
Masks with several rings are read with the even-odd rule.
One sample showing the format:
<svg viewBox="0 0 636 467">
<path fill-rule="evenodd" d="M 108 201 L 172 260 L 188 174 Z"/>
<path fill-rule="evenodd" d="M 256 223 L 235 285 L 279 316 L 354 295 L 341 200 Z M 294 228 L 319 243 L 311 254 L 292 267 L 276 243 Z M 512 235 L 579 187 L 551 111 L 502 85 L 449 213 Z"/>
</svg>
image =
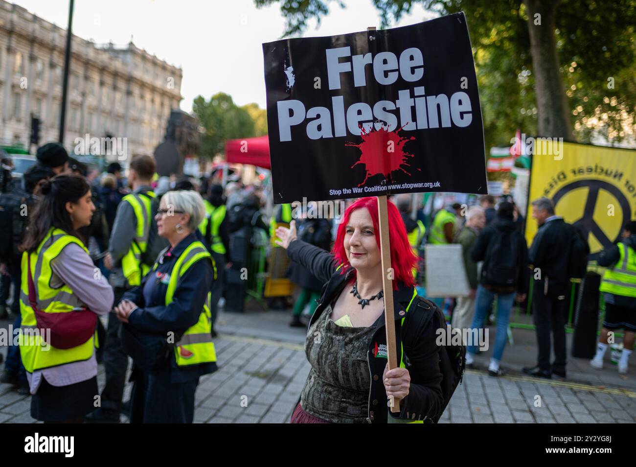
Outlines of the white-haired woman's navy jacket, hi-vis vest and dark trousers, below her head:
<svg viewBox="0 0 636 467">
<path fill-rule="evenodd" d="M 133 396 L 131 422 L 192 422 L 198 380 L 217 369 L 210 312 L 214 266 L 199 239 L 195 230 L 165 249 L 141 286 L 123 295 L 137 305 L 128 315 L 130 330 L 149 340 L 163 336 L 157 340 L 166 349 L 153 369 L 133 377 L 139 396 Z M 160 408 L 150 414 L 144 407 Z"/>
</svg>

